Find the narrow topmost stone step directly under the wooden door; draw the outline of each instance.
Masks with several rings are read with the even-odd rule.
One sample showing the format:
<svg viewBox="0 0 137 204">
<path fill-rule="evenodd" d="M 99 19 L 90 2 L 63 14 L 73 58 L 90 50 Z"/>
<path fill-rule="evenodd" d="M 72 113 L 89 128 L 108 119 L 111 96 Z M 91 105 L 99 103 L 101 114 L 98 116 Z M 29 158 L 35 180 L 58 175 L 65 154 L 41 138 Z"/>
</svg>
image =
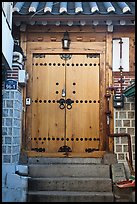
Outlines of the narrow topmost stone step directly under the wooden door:
<svg viewBox="0 0 137 204">
<path fill-rule="evenodd" d="M 100 164 L 102 158 L 29 158 L 28 164 Z"/>
</svg>

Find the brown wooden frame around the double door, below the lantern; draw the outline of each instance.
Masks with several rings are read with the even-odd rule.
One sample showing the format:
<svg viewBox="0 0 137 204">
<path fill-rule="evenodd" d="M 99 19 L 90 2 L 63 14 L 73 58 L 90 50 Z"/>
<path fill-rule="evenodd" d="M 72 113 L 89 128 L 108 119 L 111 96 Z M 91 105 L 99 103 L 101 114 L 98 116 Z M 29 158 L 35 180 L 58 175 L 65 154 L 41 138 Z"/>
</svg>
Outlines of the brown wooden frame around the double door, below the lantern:
<svg viewBox="0 0 137 204">
<path fill-rule="evenodd" d="M 26 44 L 26 70 L 29 74 L 29 81 L 27 88 L 24 91 L 24 101 L 26 97 L 31 98 L 30 86 L 32 81 L 32 56 L 34 53 L 46 53 L 46 54 L 100 54 L 100 151 L 105 152 L 106 150 L 106 101 L 105 93 L 106 86 L 110 83 L 110 77 L 108 77 L 110 70 L 106 64 L 106 42 L 72 42 L 69 50 L 63 50 L 60 48 L 60 42 L 27 42 Z M 25 146 L 28 146 L 27 152 L 30 152 L 31 143 L 31 108 L 26 106 L 26 114 L 24 118 L 24 133 L 25 133 Z M 32 154 L 33 155 L 33 154 Z M 93 153 L 95 155 L 95 153 Z M 100 154 L 102 155 L 102 154 Z"/>
</svg>

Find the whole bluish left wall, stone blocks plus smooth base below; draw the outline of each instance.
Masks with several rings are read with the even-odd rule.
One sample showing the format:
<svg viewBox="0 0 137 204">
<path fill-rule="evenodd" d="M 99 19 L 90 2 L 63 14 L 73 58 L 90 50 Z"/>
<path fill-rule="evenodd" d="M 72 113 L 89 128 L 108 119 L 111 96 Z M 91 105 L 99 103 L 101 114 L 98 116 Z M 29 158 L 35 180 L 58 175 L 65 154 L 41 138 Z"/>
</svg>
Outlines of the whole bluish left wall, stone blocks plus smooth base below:
<svg viewBox="0 0 137 204">
<path fill-rule="evenodd" d="M 22 128 L 21 92 L 4 89 L 2 102 L 2 202 L 26 202 L 28 167 L 19 165 Z M 24 176 L 18 175 L 17 172 Z"/>
</svg>

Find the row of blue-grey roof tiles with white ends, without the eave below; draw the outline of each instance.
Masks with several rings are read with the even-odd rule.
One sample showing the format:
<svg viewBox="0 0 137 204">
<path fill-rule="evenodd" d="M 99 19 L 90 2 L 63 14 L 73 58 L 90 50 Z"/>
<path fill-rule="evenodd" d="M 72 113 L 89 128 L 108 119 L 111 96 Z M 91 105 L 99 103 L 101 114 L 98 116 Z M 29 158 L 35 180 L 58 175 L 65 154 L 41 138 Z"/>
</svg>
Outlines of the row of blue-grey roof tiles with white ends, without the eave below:
<svg viewBox="0 0 137 204">
<path fill-rule="evenodd" d="M 135 14 L 135 2 L 14 2 L 19 14 Z"/>
</svg>

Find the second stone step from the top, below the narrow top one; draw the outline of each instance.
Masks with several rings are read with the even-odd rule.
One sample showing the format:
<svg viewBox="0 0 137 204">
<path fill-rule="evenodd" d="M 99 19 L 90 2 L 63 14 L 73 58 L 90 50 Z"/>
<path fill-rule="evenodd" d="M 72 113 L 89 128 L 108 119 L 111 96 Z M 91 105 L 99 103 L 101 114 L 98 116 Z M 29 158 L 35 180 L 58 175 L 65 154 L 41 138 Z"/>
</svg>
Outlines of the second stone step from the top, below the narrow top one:
<svg viewBox="0 0 137 204">
<path fill-rule="evenodd" d="M 30 177 L 96 177 L 110 178 L 107 164 L 31 164 Z"/>
</svg>

